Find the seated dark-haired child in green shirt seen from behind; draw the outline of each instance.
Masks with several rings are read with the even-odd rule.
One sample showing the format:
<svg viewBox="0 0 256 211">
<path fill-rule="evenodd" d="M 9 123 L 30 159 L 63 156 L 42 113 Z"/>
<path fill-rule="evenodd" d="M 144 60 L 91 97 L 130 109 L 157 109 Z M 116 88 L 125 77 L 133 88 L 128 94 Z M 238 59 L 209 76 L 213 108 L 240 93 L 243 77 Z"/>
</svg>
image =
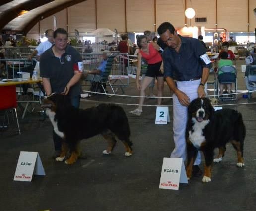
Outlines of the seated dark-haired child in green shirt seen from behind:
<svg viewBox="0 0 256 211">
<path fill-rule="evenodd" d="M 225 81 L 230 81 L 230 80 L 233 80 L 235 79 L 235 74 L 234 72 L 233 73 L 224 73 L 221 71 L 221 67 L 223 66 L 232 66 L 233 63 L 230 59 L 228 59 L 228 53 L 227 52 L 223 52 L 221 53 L 221 57 L 220 57 L 220 60 L 219 60 L 219 63 L 218 63 L 218 78 L 219 78 L 219 81 L 221 82 L 225 82 Z M 223 89 L 224 89 L 224 85 L 227 86 L 227 93 L 231 93 L 231 87 L 232 87 L 232 83 L 229 83 L 229 84 L 223 84 L 223 83 L 220 83 L 220 94 L 222 95 L 223 94 Z M 231 96 L 229 96 L 231 97 Z"/>
</svg>

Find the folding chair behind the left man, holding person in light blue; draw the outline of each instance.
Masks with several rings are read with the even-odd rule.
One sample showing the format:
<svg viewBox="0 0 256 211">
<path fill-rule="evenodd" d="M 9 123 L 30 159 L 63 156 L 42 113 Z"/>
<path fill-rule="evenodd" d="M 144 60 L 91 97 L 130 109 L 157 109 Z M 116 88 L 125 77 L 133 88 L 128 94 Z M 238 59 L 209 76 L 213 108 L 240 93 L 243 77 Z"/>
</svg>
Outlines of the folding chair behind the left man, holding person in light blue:
<svg viewBox="0 0 256 211">
<path fill-rule="evenodd" d="M 113 62 L 114 62 L 114 58 L 116 57 L 116 55 L 117 55 L 117 53 L 112 53 L 110 56 L 108 56 L 106 68 L 105 68 L 105 71 L 103 72 L 102 75 L 94 75 L 93 76 L 92 80 L 90 81 L 91 84 L 93 82 L 97 82 L 97 85 L 94 88 L 95 90 L 92 90 L 93 92 L 97 92 L 97 90 L 99 88 L 98 86 L 100 86 L 102 88 L 102 90 L 104 91 L 104 93 L 106 94 L 107 92 L 106 92 L 105 85 L 109 85 L 113 94 L 115 94 L 113 86 L 111 85 L 111 80 L 109 79 L 109 75 L 110 75 L 112 65 L 113 65 Z"/>
</svg>

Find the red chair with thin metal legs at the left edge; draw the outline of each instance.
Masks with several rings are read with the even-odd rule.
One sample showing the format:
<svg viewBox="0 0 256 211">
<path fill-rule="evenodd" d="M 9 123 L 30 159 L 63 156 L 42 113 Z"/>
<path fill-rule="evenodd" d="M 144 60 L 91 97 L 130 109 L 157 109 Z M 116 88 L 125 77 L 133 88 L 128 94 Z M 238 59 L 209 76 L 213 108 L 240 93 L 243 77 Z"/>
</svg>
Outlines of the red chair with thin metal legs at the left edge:
<svg viewBox="0 0 256 211">
<path fill-rule="evenodd" d="M 0 111 L 5 111 L 4 112 L 4 117 L 3 117 L 3 122 L 2 125 L 5 126 L 5 117 L 7 116 L 7 122 L 9 125 L 9 117 L 8 117 L 8 111 L 13 111 L 15 112 L 15 117 L 17 121 L 17 127 L 18 127 L 18 132 L 19 135 L 20 129 L 19 129 L 19 121 L 18 121 L 18 116 L 17 116 L 17 100 L 16 100 L 16 87 L 15 86 L 4 86 L 0 87 Z"/>
</svg>

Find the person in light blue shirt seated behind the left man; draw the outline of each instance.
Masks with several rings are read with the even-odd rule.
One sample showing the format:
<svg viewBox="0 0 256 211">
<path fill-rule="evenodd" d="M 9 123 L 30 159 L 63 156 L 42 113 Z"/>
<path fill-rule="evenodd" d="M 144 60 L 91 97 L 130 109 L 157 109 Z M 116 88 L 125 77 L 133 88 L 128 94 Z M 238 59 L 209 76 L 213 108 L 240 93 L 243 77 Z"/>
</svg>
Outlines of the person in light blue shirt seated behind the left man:
<svg viewBox="0 0 256 211">
<path fill-rule="evenodd" d="M 102 75 L 105 72 L 105 68 L 107 65 L 107 59 L 108 59 L 108 52 L 104 51 L 102 54 L 103 60 L 101 61 L 100 65 L 98 66 L 97 69 L 91 70 L 91 71 L 85 71 L 84 77 L 86 81 L 101 81 L 102 80 Z M 97 77 L 96 77 L 97 76 Z"/>
</svg>

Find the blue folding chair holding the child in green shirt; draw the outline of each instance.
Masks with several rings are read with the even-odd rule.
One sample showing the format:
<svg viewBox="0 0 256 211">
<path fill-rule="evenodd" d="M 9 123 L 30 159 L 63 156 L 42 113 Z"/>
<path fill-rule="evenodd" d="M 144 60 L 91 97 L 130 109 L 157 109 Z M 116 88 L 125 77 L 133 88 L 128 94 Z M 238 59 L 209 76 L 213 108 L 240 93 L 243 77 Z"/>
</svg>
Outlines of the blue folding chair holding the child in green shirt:
<svg viewBox="0 0 256 211">
<path fill-rule="evenodd" d="M 218 93 L 219 100 L 236 100 L 237 99 L 237 76 L 236 76 L 236 68 L 234 66 L 223 66 L 219 69 L 219 71 L 223 72 L 221 75 L 218 75 L 218 78 L 215 79 L 215 88 Z M 219 84 L 234 84 L 234 92 L 235 94 L 224 95 L 220 98 L 220 90 Z M 232 96 L 232 97 L 231 97 Z"/>
</svg>

